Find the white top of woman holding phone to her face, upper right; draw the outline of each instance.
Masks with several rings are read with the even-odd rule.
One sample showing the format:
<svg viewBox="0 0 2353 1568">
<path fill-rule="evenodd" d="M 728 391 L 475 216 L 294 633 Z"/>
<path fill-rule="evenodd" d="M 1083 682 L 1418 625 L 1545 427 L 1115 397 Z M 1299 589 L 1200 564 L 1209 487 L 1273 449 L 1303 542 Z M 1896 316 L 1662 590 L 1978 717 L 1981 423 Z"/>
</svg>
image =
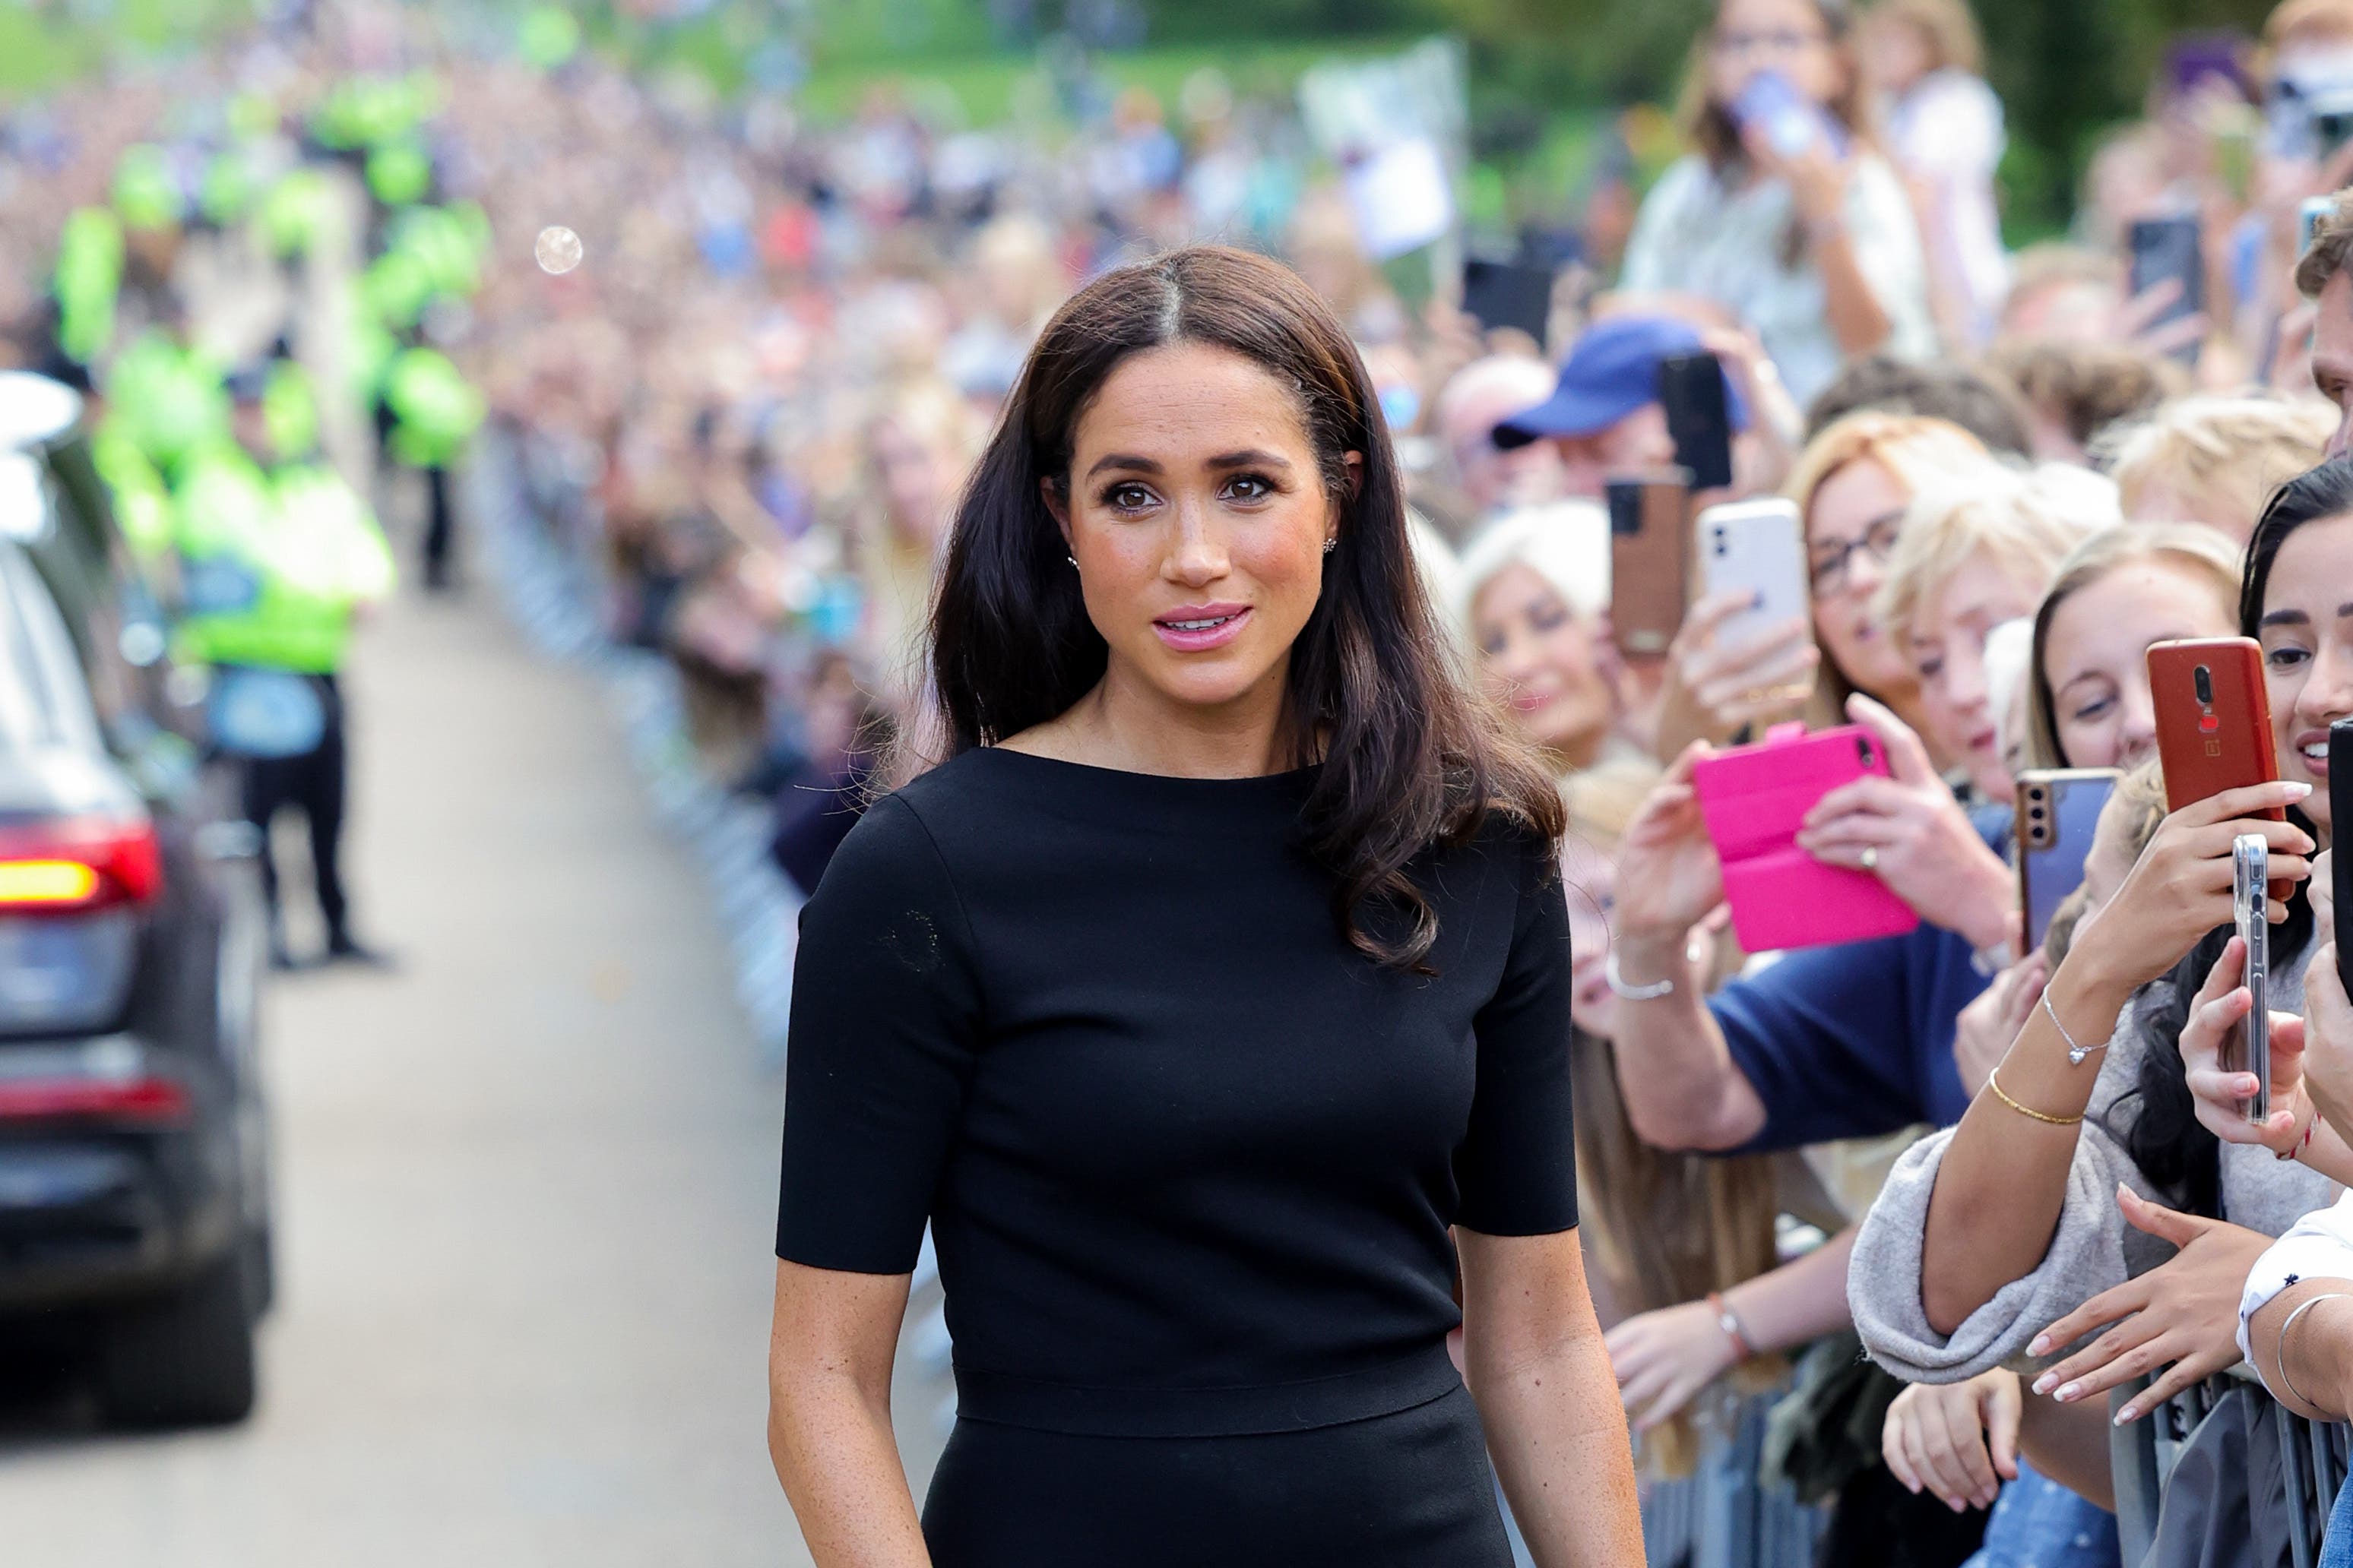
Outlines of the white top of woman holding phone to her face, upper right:
<svg viewBox="0 0 2353 1568">
<path fill-rule="evenodd" d="M 1798 266 L 1781 266 L 1781 247 L 1798 221 L 1795 200 L 1779 179 L 1729 190 L 1708 160 L 1682 158 L 1652 188 L 1626 242 L 1619 287 L 1713 299 L 1765 341 L 1791 395 L 1805 404 L 1845 364 L 1831 331 L 1828 292 L 1812 249 Z M 1927 266 L 1911 197 L 1887 160 L 1854 158 L 1847 181 L 1847 242 L 1887 313 L 1885 348 L 1908 360 L 1937 353 L 1927 310 Z"/>
</svg>

